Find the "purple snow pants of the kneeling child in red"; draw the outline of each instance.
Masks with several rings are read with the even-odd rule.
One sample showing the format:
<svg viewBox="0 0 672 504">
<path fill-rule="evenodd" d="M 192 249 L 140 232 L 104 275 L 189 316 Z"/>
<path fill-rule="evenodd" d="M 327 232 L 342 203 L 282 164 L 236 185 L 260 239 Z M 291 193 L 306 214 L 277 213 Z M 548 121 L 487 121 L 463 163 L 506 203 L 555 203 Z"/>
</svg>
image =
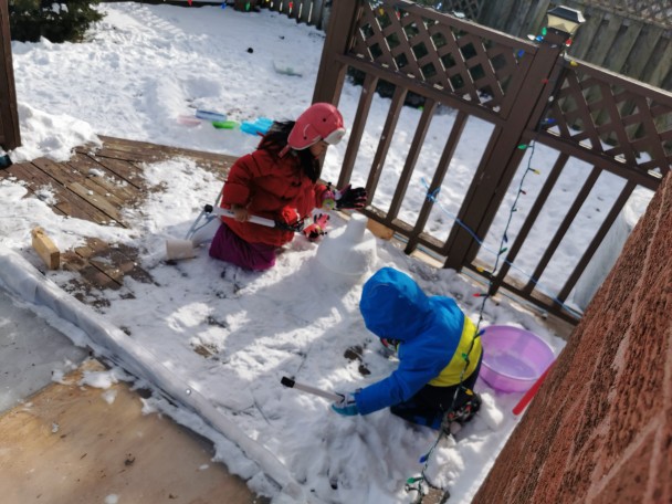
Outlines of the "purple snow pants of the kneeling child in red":
<svg viewBox="0 0 672 504">
<path fill-rule="evenodd" d="M 275 264 L 276 249 L 265 243 L 249 243 L 222 222 L 210 243 L 210 256 L 245 270 L 262 271 Z"/>
</svg>

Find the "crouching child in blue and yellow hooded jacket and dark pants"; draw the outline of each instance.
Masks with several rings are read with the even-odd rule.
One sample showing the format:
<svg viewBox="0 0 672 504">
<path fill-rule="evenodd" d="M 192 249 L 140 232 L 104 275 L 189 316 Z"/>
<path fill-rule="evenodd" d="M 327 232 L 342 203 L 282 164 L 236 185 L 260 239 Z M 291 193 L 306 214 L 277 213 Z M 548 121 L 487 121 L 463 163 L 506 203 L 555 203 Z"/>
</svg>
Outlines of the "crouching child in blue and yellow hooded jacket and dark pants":
<svg viewBox="0 0 672 504">
<path fill-rule="evenodd" d="M 481 367 L 475 325 L 445 296 L 427 296 L 407 274 L 384 267 L 364 285 L 359 309 L 366 327 L 388 348 L 399 367 L 387 378 L 332 405 L 345 416 L 391 407 L 392 413 L 440 429 L 471 419 L 480 406 L 473 391 Z M 466 356 L 466 358 L 465 358 Z"/>
</svg>

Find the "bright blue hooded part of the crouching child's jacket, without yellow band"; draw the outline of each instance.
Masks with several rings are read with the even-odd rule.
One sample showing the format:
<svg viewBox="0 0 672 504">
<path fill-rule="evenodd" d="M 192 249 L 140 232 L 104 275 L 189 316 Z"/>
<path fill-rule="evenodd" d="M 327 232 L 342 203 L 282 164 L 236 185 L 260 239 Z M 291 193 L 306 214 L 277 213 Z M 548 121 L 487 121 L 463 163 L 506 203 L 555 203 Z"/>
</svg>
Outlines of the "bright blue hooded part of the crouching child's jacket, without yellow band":
<svg viewBox="0 0 672 504">
<path fill-rule="evenodd" d="M 452 364 L 463 339 L 465 319 L 456 303 L 445 296 L 427 296 L 410 276 L 391 267 L 379 270 L 366 282 L 359 309 L 371 333 L 400 340 L 399 367 L 355 393 L 360 414 L 409 400 Z M 470 342 L 473 337 L 472 332 Z M 480 338 L 474 349 L 477 360 Z M 460 366 L 464 367 L 463 359 Z"/>
</svg>

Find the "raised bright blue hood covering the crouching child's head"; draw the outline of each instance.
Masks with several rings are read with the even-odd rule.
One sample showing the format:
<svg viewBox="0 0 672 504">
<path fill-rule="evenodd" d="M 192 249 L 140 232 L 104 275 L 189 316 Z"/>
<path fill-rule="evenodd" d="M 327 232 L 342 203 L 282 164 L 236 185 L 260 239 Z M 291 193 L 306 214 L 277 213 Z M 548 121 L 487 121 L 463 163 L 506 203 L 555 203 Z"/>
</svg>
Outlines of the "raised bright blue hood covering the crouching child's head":
<svg viewBox="0 0 672 504">
<path fill-rule="evenodd" d="M 361 291 L 359 309 L 379 338 L 408 342 L 432 318 L 429 297 L 409 275 L 391 267 L 376 272 Z"/>
</svg>

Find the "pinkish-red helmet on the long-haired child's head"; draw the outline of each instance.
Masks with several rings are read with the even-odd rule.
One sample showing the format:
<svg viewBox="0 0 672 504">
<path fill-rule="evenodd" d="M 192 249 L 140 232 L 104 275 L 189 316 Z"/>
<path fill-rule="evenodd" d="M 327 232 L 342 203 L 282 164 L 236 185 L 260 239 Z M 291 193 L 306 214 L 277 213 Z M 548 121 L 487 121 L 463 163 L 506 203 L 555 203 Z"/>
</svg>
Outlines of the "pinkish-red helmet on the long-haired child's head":
<svg viewBox="0 0 672 504">
<path fill-rule="evenodd" d="M 315 103 L 296 119 L 287 145 L 294 150 L 307 149 L 319 140 L 335 145 L 344 135 L 343 116 L 338 108 L 330 103 Z"/>
</svg>

